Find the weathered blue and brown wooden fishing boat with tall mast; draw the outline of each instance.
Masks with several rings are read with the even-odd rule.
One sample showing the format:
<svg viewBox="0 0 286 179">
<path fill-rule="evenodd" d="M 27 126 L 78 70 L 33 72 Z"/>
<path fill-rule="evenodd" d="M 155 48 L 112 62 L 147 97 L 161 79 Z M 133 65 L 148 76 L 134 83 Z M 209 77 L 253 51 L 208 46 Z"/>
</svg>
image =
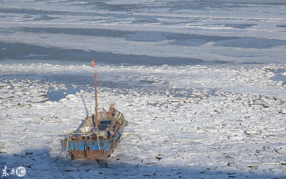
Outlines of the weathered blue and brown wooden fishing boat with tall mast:
<svg viewBox="0 0 286 179">
<path fill-rule="evenodd" d="M 84 122 L 76 131 L 68 133 L 62 140 L 64 150 L 72 159 L 104 160 L 113 152 L 128 125 L 123 114 L 110 104 L 108 111 L 98 112 L 96 77 L 95 83 L 95 114 L 85 117 Z"/>
</svg>

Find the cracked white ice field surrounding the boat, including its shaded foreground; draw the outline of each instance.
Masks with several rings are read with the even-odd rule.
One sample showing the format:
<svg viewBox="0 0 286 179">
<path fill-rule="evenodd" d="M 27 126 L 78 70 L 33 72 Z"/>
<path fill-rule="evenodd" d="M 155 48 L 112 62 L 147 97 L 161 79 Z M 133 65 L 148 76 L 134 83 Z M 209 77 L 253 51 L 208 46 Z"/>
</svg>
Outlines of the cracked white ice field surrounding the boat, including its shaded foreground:
<svg viewBox="0 0 286 179">
<path fill-rule="evenodd" d="M 275 80 L 286 65 L 97 66 L 99 107 L 115 102 L 129 121 L 111 157 L 98 162 L 71 160 L 60 142 L 94 111 L 92 83 L 85 86 L 93 68 L 0 70 L 0 168 L 24 166 L 35 178 L 286 177 L 286 85 Z M 48 100 L 69 86 L 78 92 Z"/>
</svg>

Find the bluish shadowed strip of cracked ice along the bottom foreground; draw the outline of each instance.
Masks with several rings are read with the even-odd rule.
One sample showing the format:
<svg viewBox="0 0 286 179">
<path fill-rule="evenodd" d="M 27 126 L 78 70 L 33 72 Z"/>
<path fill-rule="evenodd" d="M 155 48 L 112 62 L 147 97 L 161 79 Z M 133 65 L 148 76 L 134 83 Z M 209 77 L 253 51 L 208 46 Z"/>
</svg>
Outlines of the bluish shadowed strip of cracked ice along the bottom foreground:
<svg viewBox="0 0 286 179">
<path fill-rule="evenodd" d="M 56 146 L 58 147 L 58 146 Z M 255 170 L 245 167 L 238 162 L 229 162 L 229 165 L 220 168 L 198 166 L 192 162 L 185 162 L 182 158 L 158 159 L 152 162 L 144 157 L 135 157 L 132 150 L 115 149 L 113 156 L 106 160 L 71 159 L 68 153 L 43 146 L 29 148 L 16 153 L 0 153 L 0 168 L 6 168 L 9 178 L 18 178 L 12 175 L 17 167 L 25 168 L 24 178 L 263 178 L 274 176 L 272 172 Z M 161 162 L 163 160 L 164 162 Z M 149 161 L 149 162 L 146 162 Z M 269 167 L 263 166 L 265 168 Z M 284 178 L 285 173 L 275 174 L 275 178 Z"/>
</svg>

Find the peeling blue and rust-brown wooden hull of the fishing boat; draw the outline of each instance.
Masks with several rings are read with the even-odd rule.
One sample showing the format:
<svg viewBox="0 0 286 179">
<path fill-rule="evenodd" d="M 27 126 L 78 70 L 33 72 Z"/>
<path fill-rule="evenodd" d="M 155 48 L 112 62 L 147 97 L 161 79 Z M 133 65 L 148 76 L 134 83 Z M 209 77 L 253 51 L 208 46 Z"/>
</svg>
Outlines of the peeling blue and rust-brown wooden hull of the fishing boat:
<svg viewBox="0 0 286 179">
<path fill-rule="evenodd" d="M 115 110 L 114 114 L 113 118 L 120 122 L 112 126 L 113 131 L 69 133 L 67 139 L 62 140 L 64 150 L 70 153 L 72 159 L 104 160 L 109 157 L 119 143 L 124 127 L 128 125 L 123 114 L 117 110 Z M 104 116 L 105 114 L 101 113 L 100 115 Z M 102 116 L 100 117 L 102 118 Z M 93 123 L 93 119 L 94 115 L 87 118 L 83 125 Z M 107 133 L 109 134 L 108 137 L 103 136 L 103 134 Z"/>
</svg>

